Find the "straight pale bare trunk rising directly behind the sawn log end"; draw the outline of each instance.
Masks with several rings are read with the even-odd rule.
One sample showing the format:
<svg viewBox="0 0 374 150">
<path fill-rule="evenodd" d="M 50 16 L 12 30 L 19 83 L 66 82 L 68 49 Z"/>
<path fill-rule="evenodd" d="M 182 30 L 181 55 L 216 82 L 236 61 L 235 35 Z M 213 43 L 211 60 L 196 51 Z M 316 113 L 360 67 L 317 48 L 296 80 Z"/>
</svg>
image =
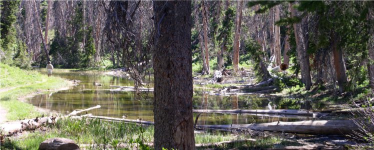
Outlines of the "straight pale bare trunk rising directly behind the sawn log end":
<svg viewBox="0 0 374 150">
<path fill-rule="evenodd" d="M 275 6 L 275 18 L 274 18 L 274 56 L 275 64 L 278 66 L 281 63 L 281 54 L 280 54 L 280 27 L 275 25 L 275 22 L 279 20 L 279 5 Z"/>
</svg>

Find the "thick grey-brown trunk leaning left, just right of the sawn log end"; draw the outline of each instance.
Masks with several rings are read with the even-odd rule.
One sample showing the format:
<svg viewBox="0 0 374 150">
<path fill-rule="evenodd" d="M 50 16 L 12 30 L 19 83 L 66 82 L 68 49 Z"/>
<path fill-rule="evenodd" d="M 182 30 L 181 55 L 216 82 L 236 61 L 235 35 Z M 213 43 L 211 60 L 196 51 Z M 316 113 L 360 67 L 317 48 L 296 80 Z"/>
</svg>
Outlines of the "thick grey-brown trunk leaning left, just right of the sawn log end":
<svg viewBox="0 0 374 150">
<path fill-rule="evenodd" d="M 297 11 L 291 6 L 292 16 L 297 16 Z M 305 18 L 302 18 L 302 22 Z M 301 23 L 302 23 L 301 22 Z M 304 36 L 302 34 L 301 23 L 293 23 L 293 29 L 296 39 L 296 52 L 297 61 L 300 64 L 301 80 L 305 84 L 305 89 L 309 90 L 312 85 L 310 76 L 310 66 L 309 66 L 309 54 L 306 52 L 306 45 L 304 42 Z"/>
</svg>

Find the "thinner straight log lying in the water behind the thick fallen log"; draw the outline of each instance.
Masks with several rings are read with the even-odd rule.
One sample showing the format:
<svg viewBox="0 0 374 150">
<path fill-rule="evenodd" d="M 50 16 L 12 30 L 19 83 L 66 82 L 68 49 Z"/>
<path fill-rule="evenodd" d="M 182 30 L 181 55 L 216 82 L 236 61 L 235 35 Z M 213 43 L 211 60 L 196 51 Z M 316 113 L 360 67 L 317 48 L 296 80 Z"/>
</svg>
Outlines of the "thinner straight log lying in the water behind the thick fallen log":
<svg viewBox="0 0 374 150">
<path fill-rule="evenodd" d="M 303 109 L 193 109 L 193 112 L 216 112 L 216 113 L 264 113 L 264 114 L 296 114 L 296 115 L 313 115 L 313 112 Z"/>
</svg>

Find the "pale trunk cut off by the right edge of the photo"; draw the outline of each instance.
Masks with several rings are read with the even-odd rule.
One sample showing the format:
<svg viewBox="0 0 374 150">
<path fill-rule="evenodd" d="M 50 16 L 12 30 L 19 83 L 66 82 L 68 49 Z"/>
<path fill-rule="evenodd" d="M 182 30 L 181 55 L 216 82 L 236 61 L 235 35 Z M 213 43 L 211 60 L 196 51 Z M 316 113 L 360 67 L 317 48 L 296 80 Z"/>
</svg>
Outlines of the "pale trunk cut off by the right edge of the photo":
<svg viewBox="0 0 374 150">
<path fill-rule="evenodd" d="M 369 53 L 369 62 L 367 63 L 367 70 L 369 73 L 369 86 L 371 90 L 374 90 L 374 28 L 372 27 L 374 24 L 374 10 L 372 7 L 368 7 L 368 19 L 369 19 L 369 42 L 368 46 L 368 53 Z"/>
</svg>

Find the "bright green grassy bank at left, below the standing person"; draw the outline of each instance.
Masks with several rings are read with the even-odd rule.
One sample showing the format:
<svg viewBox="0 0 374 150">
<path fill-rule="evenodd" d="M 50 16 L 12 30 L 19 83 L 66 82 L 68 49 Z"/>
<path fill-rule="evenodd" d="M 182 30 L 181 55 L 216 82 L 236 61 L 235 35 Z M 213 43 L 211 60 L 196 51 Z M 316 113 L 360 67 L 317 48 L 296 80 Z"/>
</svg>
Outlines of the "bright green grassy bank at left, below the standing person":
<svg viewBox="0 0 374 150">
<path fill-rule="evenodd" d="M 33 70 L 23 70 L 6 64 L 0 64 L 0 88 L 5 89 L 0 95 L 0 106 L 8 111 L 8 120 L 31 118 L 41 115 L 32 104 L 18 98 L 35 92 L 56 90 L 68 87 L 70 82 L 59 77 L 48 77 Z"/>
</svg>

